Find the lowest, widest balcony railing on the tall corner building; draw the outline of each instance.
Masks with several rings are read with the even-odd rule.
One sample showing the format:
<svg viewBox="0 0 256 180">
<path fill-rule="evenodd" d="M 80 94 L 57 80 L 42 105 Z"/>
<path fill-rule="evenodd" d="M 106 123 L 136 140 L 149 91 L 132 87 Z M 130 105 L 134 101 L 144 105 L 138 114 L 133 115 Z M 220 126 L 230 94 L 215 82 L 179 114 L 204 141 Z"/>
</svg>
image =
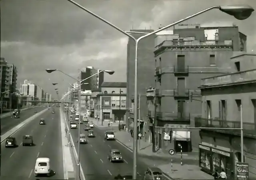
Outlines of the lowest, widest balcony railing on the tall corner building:
<svg viewBox="0 0 256 180">
<path fill-rule="evenodd" d="M 173 121 L 190 121 L 190 113 L 166 113 L 156 112 L 159 119 L 173 120 Z"/>
</svg>

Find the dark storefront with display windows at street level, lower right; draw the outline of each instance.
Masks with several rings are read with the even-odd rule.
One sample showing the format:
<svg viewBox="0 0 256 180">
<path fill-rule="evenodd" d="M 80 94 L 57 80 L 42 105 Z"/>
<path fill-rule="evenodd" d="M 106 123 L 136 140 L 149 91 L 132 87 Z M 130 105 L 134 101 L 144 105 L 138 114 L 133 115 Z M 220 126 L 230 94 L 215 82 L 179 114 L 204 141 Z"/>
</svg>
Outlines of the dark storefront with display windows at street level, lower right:
<svg viewBox="0 0 256 180">
<path fill-rule="evenodd" d="M 232 175 L 234 164 L 233 153 L 222 151 L 214 147 L 199 144 L 199 166 L 202 170 L 212 174 L 215 170 L 225 170 L 228 177 Z"/>
</svg>

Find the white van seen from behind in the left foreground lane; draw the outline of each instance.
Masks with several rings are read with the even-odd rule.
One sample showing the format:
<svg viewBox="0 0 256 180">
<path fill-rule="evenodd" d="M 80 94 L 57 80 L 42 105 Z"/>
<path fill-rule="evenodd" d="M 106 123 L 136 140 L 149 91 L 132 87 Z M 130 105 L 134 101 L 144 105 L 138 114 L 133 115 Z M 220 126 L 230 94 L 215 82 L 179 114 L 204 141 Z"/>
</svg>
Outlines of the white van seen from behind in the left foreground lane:
<svg viewBox="0 0 256 180">
<path fill-rule="evenodd" d="M 38 176 L 38 174 L 47 174 L 47 176 L 50 176 L 50 172 L 50 159 L 37 158 L 35 166 L 35 176 Z"/>
</svg>

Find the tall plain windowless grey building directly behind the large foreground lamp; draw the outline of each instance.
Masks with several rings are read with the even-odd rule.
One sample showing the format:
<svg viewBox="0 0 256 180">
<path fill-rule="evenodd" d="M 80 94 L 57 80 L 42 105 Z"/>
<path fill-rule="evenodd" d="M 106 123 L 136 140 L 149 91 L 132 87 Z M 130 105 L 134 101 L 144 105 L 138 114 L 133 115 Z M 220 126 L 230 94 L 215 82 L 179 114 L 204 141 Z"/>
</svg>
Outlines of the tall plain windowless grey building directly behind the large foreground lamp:
<svg viewBox="0 0 256 180">
<path fill-rule="evenodd" d="M 154 30 L 145 30 L 145 29 L 132 29 L 130 31 L 134 32 L 142 32 L 142 33 L 131 33 L 136 39 L 145 35 L 145 33 L 153 32 Z M 138 44 L 138 94 L 141 94 L 141 102 L 146 102 L 146 88 L 149 86 L 154 86 L 154 70 L 155 70 L 155 59 L 154 59 L 154 35 L 146 37 L 140 41 Z M 132 108 L 132 97 L 134 96 L 134 75 L 135 75 L 135 43 L 129 38 L 127 44 L 127 101 L 126 101 L 126 124 L 131 124 L 134 120 L 133 111 L 130 111 Z M 142 103 L 140 105 L 140 114 L 141 118 L 146 118 L 147 115 L 147 107 L 146 103 Z M 130 126 L 127 126 L 128 128 Z"/>
</svg>

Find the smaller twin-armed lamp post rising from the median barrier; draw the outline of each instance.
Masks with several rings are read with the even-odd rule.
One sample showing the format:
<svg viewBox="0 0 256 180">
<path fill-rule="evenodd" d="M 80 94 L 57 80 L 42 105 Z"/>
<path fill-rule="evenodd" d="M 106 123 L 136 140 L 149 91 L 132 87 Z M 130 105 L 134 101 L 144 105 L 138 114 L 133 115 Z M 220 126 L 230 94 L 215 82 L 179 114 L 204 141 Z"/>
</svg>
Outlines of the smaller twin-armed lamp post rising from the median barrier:
<svg viewBox="0 0 256 180">
<path fill-rule="evenodd" d="M 113 70 L 100 70 L 99 72 L 97 72 L 97 73 L 93 74 L 92 76 L 89 76 L 88 78 L 85 78 L 83 80 L 81 80 L 81 75 L 79 75 L 79 79 L 76 79 L 59 69 L 46 69 L 46 72 L 52 73 L 56 70 L 62 72 L 63 74 L 66 74 L 67 76 L 69 76 L 70 78 L 72 78 L 78 82 L 78 85 L 70 90 L 70 92 L 72 92 L 72 90 L 77 89 L 79 87 L 79 92 L 78 92 L 79 125 L 78 125 L 78 153 L 77 153 L 78 160 L 77 160 L 77 169 L 76 169 L 76 171 L 77 171 L 76 178 L 78 180 L 78 179 L 80 179 L 80 141 L 79 141 L 79 139 L 80 139 L 80 117 L 81 117 L 81 85 L 88 84 L 88 83 L 82 83 L 82 82 L 91 78 L 92 76 L 95 76 L 96 74 L 99 74 L 100 72 L 107 72 L 108 74 L 111 75 L 111 74 L 114 74 L 114 71 Z M 67 94 L 69 94 L 70 92 L 68 92 Z"/>
</svg>

